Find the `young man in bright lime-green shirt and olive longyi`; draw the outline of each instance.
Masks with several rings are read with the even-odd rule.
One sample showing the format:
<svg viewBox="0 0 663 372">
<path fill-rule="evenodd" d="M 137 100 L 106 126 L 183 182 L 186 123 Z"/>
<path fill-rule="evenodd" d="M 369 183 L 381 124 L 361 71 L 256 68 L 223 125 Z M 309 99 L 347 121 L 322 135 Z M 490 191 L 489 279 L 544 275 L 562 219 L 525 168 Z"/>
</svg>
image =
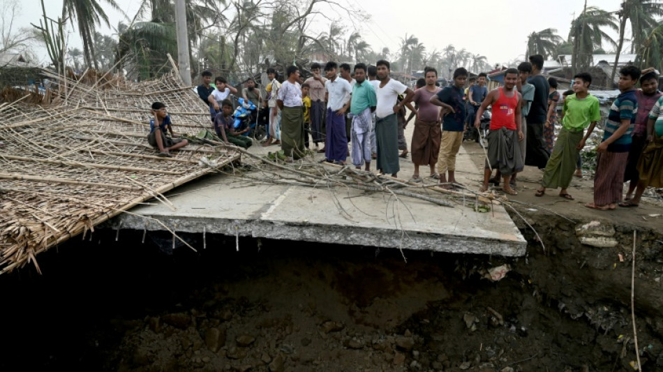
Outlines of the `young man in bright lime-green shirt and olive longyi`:
<svg viewBox="0 0 663 372">
<path fill-rule="evenodd" d="M 579 73 L 573 77 L 572 94 L 564 101 L 562 111 L 562 129 L 557 137 L 553 153 L 544 170 L 541 186 L 536 196 L 543 196 L 546 188 L 561 188 L 560 196 L 573 200 L 567 193 L 573 172 L 576 169 L 579 151 L 585 147 L 585 141 L 594 131 L 597 121 L 601 119 L 599 100 L 589 94 L 592 75 Z M 589 127 L 583 137 L 583 131 Z"/>
</svg>

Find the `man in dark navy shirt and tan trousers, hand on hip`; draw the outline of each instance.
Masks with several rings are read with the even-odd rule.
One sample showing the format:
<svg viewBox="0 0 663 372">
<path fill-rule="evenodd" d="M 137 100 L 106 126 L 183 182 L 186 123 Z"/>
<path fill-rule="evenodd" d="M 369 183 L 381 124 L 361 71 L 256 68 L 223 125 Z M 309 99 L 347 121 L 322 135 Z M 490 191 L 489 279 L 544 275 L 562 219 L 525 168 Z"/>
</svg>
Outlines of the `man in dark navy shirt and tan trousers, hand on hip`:
<svg viewBox="0 0 663 372">
<path fill-rule="evenodd" d="M 468 70 L 465 68 L 456 68 L 454 71 L 454 84 L 445 87 L 431 97 L 431 103 L 442 107 L 445 111 L 445 118 L 442 121 L 442 144 L 440 146 L 440 155 L 438 155 L 438 173 L 440 174 L 440 184 L 447 183 L 447 171 L 449 172 L 449 184 L 456 183 L 456 155 L 461 149 L 463 142 L 463 130 L 467 112 L 465 112 L 465 102 L 463 101 L 463 87 L 468 80 Z M 447 185 L 445 188 L 451 188 Z"/>
</svg>

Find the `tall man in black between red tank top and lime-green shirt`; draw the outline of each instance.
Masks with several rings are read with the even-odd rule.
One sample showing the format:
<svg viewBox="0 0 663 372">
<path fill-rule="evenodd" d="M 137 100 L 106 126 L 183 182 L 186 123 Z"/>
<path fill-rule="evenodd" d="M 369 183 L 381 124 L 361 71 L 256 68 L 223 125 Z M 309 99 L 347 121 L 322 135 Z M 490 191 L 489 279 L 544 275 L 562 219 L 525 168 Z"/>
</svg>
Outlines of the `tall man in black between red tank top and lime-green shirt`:
<svg viewBox="0 0 663 372">
<path fill-rule="evenodd" d="M 550 154 L 544 140 L 543 127 L 548 114 L 548 94 L 550 85 L 541 75 L 543 57 L 541 54 L 530 56 L 532 64 L 532 77 L 528 81 L 534 85 L 534 101 L 527 115 L 527 151 L 525 165 L 533 165 L 539 169 L 546 168 Z"/>
</svg>

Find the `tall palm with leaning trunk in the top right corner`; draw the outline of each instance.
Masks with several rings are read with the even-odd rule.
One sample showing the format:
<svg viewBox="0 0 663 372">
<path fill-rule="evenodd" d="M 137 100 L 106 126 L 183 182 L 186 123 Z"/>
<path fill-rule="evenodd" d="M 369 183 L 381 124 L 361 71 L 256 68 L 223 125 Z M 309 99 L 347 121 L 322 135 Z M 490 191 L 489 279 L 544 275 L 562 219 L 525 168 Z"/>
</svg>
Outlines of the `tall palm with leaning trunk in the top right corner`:
<svg viewBox="0 0 663 372">
<path fill-rule="evenodd" d="M 632 50 L 640 51 L 643 41 L 647 38 L 646 30 L 653 29 L 657 24 L 654 16 L 663 15 L 663 4 L 658 0 L 624 0 L 621 9 L 617 12 L 619 18 L 619 42 L 617 44 L 615 64 L 612 67 L 611 81 L 615 80 L 619 54 L 624 44 L 624 31 L 626 22 L 631 21 L 633 35 Z"/>
</svg>

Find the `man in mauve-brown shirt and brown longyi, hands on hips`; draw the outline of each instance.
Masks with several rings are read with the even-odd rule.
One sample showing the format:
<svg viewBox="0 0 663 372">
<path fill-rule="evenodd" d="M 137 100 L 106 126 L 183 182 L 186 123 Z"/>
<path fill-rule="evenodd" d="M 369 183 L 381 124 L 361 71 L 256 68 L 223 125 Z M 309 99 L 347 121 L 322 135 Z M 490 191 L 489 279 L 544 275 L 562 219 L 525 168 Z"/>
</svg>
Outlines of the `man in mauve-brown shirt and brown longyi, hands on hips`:
<svg viewBox="0 0 663 372">
<path fill-rule="evenodd" d="M 412 174 L 414 181 L 419 181 L 419 165 L 429 165 L 431 167 L 431 178 L 440 179 L 440 175 L 435 172 L 435 164 L 438 163 L 438 154 L 440 154 L 440 140 L 442 131 L 440 131 L 440 108 L 431 103 L 431 98 L 441 90 L 435 87 L 438 81 L 438 70 L 427 67 L 424 70 L 424 87 L 415 91 L 412 102 L 415 103 L 417 119 L 415 119 L 415 130 L 412 132 L 412 163 L 415 163 L 415 173 Z"/>
</svg>

